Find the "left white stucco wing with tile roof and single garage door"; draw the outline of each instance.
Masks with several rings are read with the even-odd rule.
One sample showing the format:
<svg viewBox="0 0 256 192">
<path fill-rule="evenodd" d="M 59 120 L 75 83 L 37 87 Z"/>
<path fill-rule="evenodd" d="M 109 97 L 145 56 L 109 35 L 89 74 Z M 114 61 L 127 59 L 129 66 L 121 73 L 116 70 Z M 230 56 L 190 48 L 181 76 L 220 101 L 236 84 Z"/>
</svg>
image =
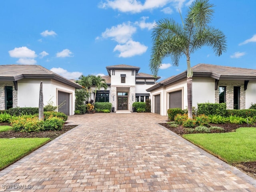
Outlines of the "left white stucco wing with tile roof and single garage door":
<svg viewBox="0 0 256 192">
<path fill-rule="evenodd" d="M 44 105 L 62 104 L 59 112 L 74 114 L 75 89 L 82 87 L 39 65 L 0 65 L 0 110 L 38 107 L 41 81 Z"/>
</svg>

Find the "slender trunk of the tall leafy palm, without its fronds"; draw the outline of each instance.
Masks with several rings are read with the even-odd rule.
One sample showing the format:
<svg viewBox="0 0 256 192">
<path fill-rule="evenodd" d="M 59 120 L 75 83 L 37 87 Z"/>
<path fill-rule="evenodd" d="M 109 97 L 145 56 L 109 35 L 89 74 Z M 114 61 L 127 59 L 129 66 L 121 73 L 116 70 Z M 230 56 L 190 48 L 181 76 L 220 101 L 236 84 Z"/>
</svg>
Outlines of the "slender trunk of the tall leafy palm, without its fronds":
<svg viewBox="0 0 256 192">
<path fill-rule="evenodd" d="M 188 89 L 188 118 L 192 119 L 192 76 L 193 72 L 190 67 L 190 56 L 187 57 L 187 89 Z"/>
</svg>

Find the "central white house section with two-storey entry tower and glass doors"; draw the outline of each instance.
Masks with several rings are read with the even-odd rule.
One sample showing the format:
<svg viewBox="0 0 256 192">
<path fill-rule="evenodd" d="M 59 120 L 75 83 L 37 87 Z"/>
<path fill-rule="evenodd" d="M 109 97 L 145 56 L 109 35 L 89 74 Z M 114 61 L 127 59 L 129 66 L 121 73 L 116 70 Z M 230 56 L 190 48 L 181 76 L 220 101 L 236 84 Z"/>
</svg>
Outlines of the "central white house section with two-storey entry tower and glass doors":
<svg viewBox="0 0 256 192">
<path fill-rule="evenodd" d="M 145 73 L 138 73 L 140 68 L 130 65 L 107 66 L 107 76 L 102 76 L 108 85 L 107 90 L 103 88 L 96 90 L 96 102 L 111 102 L 114 111 L 129 110 L 132 112 L 134 102 L 145 102 L 150 98 L 150 93 L 146 91 L 160 77 Z M 95 87 L 92 88 L 95 90 Z"/>
</svg>

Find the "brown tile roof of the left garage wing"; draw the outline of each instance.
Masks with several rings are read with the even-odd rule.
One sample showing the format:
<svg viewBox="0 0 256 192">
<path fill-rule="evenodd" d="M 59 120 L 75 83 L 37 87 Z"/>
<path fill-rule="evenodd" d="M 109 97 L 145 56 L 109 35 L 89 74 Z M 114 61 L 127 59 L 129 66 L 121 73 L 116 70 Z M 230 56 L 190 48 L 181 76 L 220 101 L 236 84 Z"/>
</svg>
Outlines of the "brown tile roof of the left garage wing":
<svg viewBox="0 0 256 192">
<path fill-rule="evenodd" d="M 40 65 L 0 65 L 0 80 L 17 81 L 23 78 L 54 79 L 75 88 L 80 85 L 40 66 Z"/>
</svg>

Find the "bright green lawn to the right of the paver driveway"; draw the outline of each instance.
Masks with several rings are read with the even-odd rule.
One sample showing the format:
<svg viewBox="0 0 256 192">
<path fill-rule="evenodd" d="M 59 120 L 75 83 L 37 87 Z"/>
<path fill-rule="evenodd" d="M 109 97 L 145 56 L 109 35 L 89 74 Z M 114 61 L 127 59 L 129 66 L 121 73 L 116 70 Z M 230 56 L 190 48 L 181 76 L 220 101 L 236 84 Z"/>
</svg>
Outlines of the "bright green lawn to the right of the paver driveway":
<svg viewBox="0 0 256 192">
<path fill-rule="evenodd" d="M 230 164 L 256 161 L 256 128 L 238 128 L 236 132 L 228 133 L 186 134 L 183 137 Z"/>
</svg>

